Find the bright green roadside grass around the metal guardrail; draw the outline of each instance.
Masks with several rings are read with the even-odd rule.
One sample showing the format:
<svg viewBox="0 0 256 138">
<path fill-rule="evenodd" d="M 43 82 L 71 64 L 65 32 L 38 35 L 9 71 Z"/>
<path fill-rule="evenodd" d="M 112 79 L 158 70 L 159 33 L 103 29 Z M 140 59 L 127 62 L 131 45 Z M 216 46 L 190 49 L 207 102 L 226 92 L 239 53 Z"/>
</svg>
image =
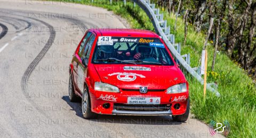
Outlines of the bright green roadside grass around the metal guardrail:
<svg viewBox="0 0 256 138">
<path fill-rule="evenodd" d="M 91 3 L 91 0 L 76 1 L 76 3 L 106 8 L 126 19 L 132 28 L 154 31 L 153 24 L 146 13 L 139 6 L 134 8 L 131 2 L 128 2 L 126 6 L 122 2 L 113 2 L 110 5 L 109 1 L 100 0 L 94 0 L 94 3 Z M 165 11 L 162 11 L 162 13 L 164 13 L 164 18 L 172 28 L 171 33 L 175 34 L 175 41 L 183 42 L 184 22 L 182 19 L 178 18 L 177 31 L 174 32 L 175 16 Z M 181 53 L 190 53 L 191 67 L 199 65 L 198 61 L 202 53 L 204 40 L 205 35 L 197 33 L 189 25 L 187 42 L 186 45 L 182 44 Z M 217 82 L 221 96 L 216 97 L 212 92 L 206 91 L 206 100 L 203 102 L 203 86 L 185 72 L 189 82 L 191 112 L 195 115 L 195 118 L 205 123 L 210 123 L 211 120 L 216 122 L 228 120 L 231 126 L 228 137 L 256 137 L 255 84 L 246 72 L 239 68 L 239 65 L 232 62 L 222 51 L 220 55 L 217 55 L 214 72 L 210 71 L 213 46 L 207 46 L 207 51 L 209 59 L 207 82 Z"/>
</svg>

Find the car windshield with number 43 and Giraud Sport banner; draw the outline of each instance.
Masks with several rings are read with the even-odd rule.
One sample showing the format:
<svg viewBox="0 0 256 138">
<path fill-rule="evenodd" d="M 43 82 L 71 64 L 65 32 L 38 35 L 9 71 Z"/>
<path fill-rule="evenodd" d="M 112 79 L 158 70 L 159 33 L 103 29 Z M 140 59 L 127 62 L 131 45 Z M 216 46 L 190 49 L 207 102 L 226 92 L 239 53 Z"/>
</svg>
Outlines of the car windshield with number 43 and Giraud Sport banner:
<svg viewBox="0 0 256 138">
<path fill-rule="evenodd" d="M 99 37 L 95 64 L 174 65 L 164 44 L 157 38 Z"/>
</svg>

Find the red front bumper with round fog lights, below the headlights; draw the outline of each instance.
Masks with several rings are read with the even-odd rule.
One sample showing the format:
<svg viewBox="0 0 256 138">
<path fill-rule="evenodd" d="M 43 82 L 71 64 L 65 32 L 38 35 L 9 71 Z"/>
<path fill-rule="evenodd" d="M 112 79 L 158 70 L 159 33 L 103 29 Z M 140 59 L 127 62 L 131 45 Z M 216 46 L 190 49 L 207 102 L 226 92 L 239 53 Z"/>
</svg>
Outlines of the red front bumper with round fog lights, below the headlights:
<svg viewBox="0 0 256 138">
<path fill-rule="evenodd" d="M 138 91 L 101 92 L 89 89 L 92 111 L 97 114 L 107 115 L 182 115 L 187 109 L 188 92 L 167 94 L 166 91 L 140 93 Z M 102 99 L 102 96 L 112 98 Z M 114 98 L 113 98 L 114 97 Z M 131 105 L 127 104 L 128 97 L 159 97 L 161 102 L 157 105 Z M 183 100 L 174 100 L 186 97 Z M 108 105 L 106 108 L 105 105 Z M 179 109 L 177 109 L 179 105 Z M 175 107 L 176 106 L 176 107 Z"/>
</svg>

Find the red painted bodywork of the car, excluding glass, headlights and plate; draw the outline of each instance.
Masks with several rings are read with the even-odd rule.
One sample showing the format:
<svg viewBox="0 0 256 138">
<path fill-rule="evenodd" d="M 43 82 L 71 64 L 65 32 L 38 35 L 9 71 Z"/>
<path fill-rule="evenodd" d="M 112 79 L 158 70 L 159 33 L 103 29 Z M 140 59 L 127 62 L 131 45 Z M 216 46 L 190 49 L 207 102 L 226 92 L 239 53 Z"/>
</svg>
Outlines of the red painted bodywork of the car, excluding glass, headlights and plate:
<svg viewBox="0 0 256 138">
<path fill-rule="evenodd" d="M 165 45 L 164 41 L 156 35 L 156 33 L 146 30 L 132 30 L 132 29 L 90 29 L 87 32 L 91 32 L 95 35 L 95 40 L 92 45 L 91 54 L 87 67 L 82 64 L 82 59 L 78 55 L 79 47 L 85 38 L 79 43 L 74 55 L 72 62 L 70 64 L 70 73 L 73 75 L 73 84 L 75 88 L 75 93 L 82 97 L 82 91 L 79 90 L 78 83 L 78 66 L 84 67 L 84 86 L 89 89 L 90 99 L 91 99 L 91 110 L 98 114 L 113 114 L 114 104 L 126 104 L 128 97 L 159 97 L 161 102 L 159 105 L 167 105 L 171 107 L 171 115 L 181 115 L 185 114 L 187 108 L 187 100 L 189 98 L 188 82 L 185 76 L 174 62 L 170 50 Z M 86 33 L 87 33 L 86 32 Z M 99 36 L 113 36 L 113 37 L 147 37 L 147 38 L 158 38 L 162 41 L 170 54 L 174 66 L 164 66 L 164 65 L 134 65 L 134 64 L 93 64 L 92 57 L 94 53 L 95 46 Z M 127 71 L 124 70 L 125 66 L 143 66 L 148 67 L 151 71 Z M 133 73 L 136 74 L 137 78 L 134 81 L 121 81 L 117 79 L 118 73 Z M 144 77 L 141 77 L 144 76 Z M 95 82 L 103 82 L 114 85 L 119 88 L 118 93 L 115 92 L 102 92 L 94 90 Z M 182 93 L 168 94 L 167 88 L 175 84 L 186 83 L 187 91 Z M 140 93 L 139 87 L 147 87 L 147 93 Z M 111 97 L 110 99 L 104 99 L 102 97 Z M 114 97 L 114 98 L 113 98 Z M 183 98 L 183 100 L 175 100 L 178 98 Z M 182 99 L 181 98 L 181 99 Z M 113 100 L 114 99 L 114 100 Z M 103 107 L 104 103 L 109 103 L 110 107 L 108 109 Z M 175 103 L 179 103 L 179 109 L 175 109 Z"/>
</svg>

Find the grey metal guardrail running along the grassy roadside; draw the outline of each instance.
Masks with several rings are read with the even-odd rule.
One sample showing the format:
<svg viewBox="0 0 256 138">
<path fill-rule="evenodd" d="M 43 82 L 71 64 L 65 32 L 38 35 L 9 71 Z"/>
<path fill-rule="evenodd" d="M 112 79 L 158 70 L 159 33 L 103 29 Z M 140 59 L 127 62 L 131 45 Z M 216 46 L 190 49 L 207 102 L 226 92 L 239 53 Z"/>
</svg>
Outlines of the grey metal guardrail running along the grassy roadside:
<svg viewBox="0 0 256 138">
<path fill-rule="evenodd" d="M 163 20 L 163 13 L 160 14 L 159 8 L 155 8 L 155 4 L 151 4 L 150 0 L 132 0 L 133 2 L 137 3 L 143 11 L 147 13 L 149 19 L 154 25 L 156 33 L 162 36 L 165 44 L 171 50 L 173 56 L 178 59 L 179 63 L 189 72 L 192 76 L 195 77 L 202 85 L 204 84 L 204 80 L 202 79 L 201 75 L 195 72 L 195 68 L 190 67 L 190 55 L 185 54 L 181 55 L 181 46 L 180 44 L 175 44 L 175 37 L 174 35 L 170 34 L 170 26 L 167 27 L 167 21 Z M 177 49 L 175 49 L 177 47 Z M 186 58 L 183 59 L 183 57 Z M 212 92 L 214 92 L 217 96 L 220 96 L 220 93 L 212 88 L 211 84 L 207 84 L 206 88 Z"/>
</svg>

